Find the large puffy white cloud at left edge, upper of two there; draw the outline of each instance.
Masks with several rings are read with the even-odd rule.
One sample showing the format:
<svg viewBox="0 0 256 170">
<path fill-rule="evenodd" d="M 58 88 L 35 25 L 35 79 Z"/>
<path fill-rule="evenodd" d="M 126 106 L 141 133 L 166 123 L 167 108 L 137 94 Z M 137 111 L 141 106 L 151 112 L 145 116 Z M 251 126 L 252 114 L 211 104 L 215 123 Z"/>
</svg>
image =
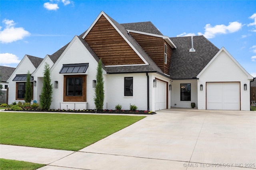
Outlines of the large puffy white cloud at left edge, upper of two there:
<svg viewBox="0 0 256 170">
<path fill-rule="evenodd" d="M 14 27 L 16 23 L 13 20 L 2 21 L 6 27 L 2 30 L 0 29 L 0 42 L 1 43 L 12 43 L 24 39 L 24 37 L 29 36 L 30 33 L 22 27 Z"/>
</svg>

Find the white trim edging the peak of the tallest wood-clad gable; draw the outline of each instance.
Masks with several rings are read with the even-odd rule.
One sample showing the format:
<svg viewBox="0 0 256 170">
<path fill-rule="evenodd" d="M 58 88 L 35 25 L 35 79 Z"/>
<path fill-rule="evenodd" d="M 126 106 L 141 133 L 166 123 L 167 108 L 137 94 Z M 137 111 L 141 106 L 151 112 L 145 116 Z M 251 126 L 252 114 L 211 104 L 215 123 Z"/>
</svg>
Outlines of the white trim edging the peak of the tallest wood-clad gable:
<svg viewBox="0 0 256 170">
<path fill-rule="evenodd" d="M 84 34 L 84 36 L 82 37 L 83 39 L 86 37 L 86 35 L 90 32 L 90 30 L 92 29 L 92 27 L 94 27 L 95 23 L 99 20 L 99 18 L 101 16 L 104 16 L 109 23 L 116 29 L 116 31 L 122 36 L 122 38 L 124 39 L 124 41 L 126 41 L 126 43 L 128 43 L 128 45 L 130 45 L 130 47 L 134 50 L 134 52 L 140 57 L 140 59 L 142 59 L 142 61 L 146 64 L 149 65 L 148 62 L 144 59 L 144 57 L 142 57 L 142 55 L 136 50 L 136 48 L 130 43 L 130 41 L 128 41 L 128 39 L 124 36 L 124 34 L 122 34 L 122 32 L 116 27 L 116 25 L 110 20 L 110 18 L 108 18 L 108 16 L 102 11 L 100 12 L 100 15 L 98 15 L 98 17 L 96 18 L 96 20 L 92 23 L 92 25 L 89 27 L 89 29 L 86 31 L 86 33 Z"/>
</svg>

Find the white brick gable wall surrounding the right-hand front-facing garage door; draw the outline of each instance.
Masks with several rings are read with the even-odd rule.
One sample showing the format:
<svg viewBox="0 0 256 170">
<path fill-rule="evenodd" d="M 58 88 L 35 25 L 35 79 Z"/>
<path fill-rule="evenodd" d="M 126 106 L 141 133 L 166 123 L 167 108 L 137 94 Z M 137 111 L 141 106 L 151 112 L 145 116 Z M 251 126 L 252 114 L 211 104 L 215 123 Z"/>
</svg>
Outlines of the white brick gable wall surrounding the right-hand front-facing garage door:
<svg viewBox="0 0 256 170">
<path fill-rule="evenodd" d="M 230 56 L 222 51 L 200 75 L 198 80 L 198 109 L 206 109 L 206 82 L 240 82 L 241 110 L 250 110 L 250 80 Z M 200 91 L 200 84 L 203 91 Z M 244 84 L 247 89 L 244 90 Z"/>
</svg>

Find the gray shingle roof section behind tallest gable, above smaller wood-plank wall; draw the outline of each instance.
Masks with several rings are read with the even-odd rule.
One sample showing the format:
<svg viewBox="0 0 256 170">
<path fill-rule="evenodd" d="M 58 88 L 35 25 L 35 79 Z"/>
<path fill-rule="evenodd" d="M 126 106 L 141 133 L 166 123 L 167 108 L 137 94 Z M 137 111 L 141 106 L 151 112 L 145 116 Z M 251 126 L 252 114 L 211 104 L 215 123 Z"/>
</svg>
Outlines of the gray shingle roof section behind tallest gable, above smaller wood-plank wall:
<svg viewBox="0 0 256 170">
<path fill-rule="evenodd" d="M 122 23 L 125 29 L 130 29 L 134 31 L 140 31 L 145 33 L 152 33 L 157 35 L 162 35 L 162 33 L 155 27 L 155 25 L 150 22 L 134 22 L 134 23 Z"/>
</svg>

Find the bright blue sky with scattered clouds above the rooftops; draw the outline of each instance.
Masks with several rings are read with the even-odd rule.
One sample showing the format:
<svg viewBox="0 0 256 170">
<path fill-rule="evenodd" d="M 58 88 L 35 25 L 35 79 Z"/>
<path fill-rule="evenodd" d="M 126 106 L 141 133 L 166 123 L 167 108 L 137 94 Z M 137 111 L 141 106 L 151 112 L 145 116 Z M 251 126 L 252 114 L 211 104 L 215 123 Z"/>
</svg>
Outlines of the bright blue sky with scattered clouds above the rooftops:
<svg viewBox="0 0 256 170">
<path fill-rule="evenodd" d="M 26 54 L 53 54 L 101 11 L 118 23 L 151 21 L 169 37 L 204 35 L 256 76 L 255 0 L 0 0 L 0 65 L 16 67 Z"/>
</svg>

